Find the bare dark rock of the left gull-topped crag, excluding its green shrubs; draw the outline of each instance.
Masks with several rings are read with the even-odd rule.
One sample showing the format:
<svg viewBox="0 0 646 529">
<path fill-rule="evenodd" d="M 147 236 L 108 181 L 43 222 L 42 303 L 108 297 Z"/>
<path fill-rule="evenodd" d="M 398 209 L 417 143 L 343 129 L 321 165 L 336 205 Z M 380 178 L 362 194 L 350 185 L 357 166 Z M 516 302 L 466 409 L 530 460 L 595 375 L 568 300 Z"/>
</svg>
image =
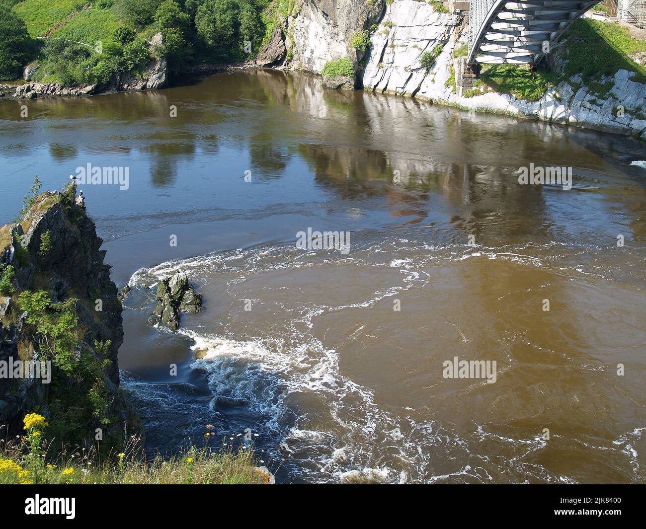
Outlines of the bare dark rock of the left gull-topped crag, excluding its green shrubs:
<svg viewBox="0 0 646 529">
<path fill-rule="evenodd" d="M 22 220 L 30 226 L 26 233 L 23 233 L 22 224 L 14 225 L 12 246 L 15 246 L 14 253 L 19 251 L 20 254 L 20 258 L 12 260 L 16 268 L 17 293 L 43 289 L 48 291 L 52 302 L 78 299 L 75 307 L 79 333 L 77 349 L 98 356 L 90 344 L 95 340 L 104 343 L 110 340 L 105 359 L 111 364 L 105 369 L 103 382 L 106 401 L 109 402 L 105 412 L 114 420 L 102 428 L 104 439 L 121 439 L 124 430 L 134 433 L 137 424 L 132 407 L 125 402 L 118 388 L 117 352 L 123 342 L 122 306 L 116 285 L 110 280 L 110 266 L 103 262 L 103 240 L 97 236 L 96 226 L 85 209 L 76 205 L 75 192 L 76 186 L 70 184 L 64 193 L 41 195 Z M 50 236 L 50 249 L 43 253 L 41 242 L 46 232 Z M 3 255 L 6 256 L 5 252 Z M 97 298 L 102 301 L 100 313 L 95 308 Z M 30 342 L 32 358 L 37 359 L 40 341 L 34 335 L 34 327 L 26 324 L 26 315 L 23 314 L 15 323 L 3 327 L 0 359 L 18 359 L 17 344 Z M 65 375 L 59 372 L 58 376 L 64 382 Z M 41 410 L 47 416 L 48 402 L 57 399 L 60 395 L 56 391 L 64 392 L 65 386 L 63 383 L 52 389 L 33 378 L 0 379 L 0 400 L 5 402 L 0 406 L 0 424 L 7 424 L 10 432 L 21 433 L 25 414 Z M 94 428 L 89 428 L 87 435 L 87 445 L 90 446 L 94 444 Z"/>
</svg>

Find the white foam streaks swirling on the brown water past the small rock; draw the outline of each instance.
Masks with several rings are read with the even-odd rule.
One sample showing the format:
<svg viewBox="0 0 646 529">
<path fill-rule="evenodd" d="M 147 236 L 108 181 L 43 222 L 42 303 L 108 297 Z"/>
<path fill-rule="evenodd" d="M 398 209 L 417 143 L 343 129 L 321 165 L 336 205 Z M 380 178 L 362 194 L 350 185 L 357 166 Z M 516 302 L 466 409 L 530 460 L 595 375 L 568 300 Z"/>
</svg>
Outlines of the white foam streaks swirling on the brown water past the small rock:
<svg viewBox="0 0 646 529">
<path fill-rule="evenodd" d="M 404 255 L 408 251 L 415 252 L 416 257 L 386 262 L 375 258 L 379 250 L 391 252 L 393 247 Z M 194 360 L 191 368 L 203 371 L 207 376 L 214 395 L 213 410 L 217 411 L 222 399 L 229 399 L 245 403 L 250 410 L 269 417 L 264 428 L 282 439 L 283 453 L 298 459 L 298 473 L 308 481 L 488 482 L 492 475 L 484 464 L 492 463 L 486 456 L 471 453 L 470 448 L 474 442 L 491 440 L 505 444 L 516 453 L 516 457 L 504 462 L 506 468 L 501 468 L 501 472 L 558 481 L 558 477 L 550 476 L 545 469 L 523 461 L 528 454 L 545 448 L 542 439 L 512 439 L 486 432 L 482 427 L 474 432 L 472 439 L 461 439 L 432 420 L 415 420 L 419 413 L 412 408 L 380 406 L 370 388 L 342 373 L 338 351 L 325 347 L 307 330 L 313 328 L 315 318 L 325 313 L 351 307 L 373 307 L 384 298 L 427 285 L 431 277 L 424 268 L 435 264 L 477 256 L 513 260 L 521 265 L 546 264 L 544 259 L 526 255 L 525 252 L 530 251 L 528 248 L 529 245 L 481 246 L 474 252 L 472 247 L 413 245 L 399 239 L 384 240 L 376 245 L 371 243 L 367 247 L 355 244 L 353 253 L 344 257 L 338 253 L 305 253 L 292 245 L 272 245 L 223 251 L 143 268 L 132 276 L 130 285 L 148 286 L 178 270 L 187 272 L 198 285 L 200 278 L 209 272 L 217 273 L 228 285 L 234 285 L 261 271 L 314 269 L 337 262 L 393 268 L 393 272 L 402 275 L 399 282 L 375 285 L 375 291 L 363 300 L 340 306 L 301 304 L 297 309 L 286 309 L 282 330 L 273 329 L 271 336 L 243 339 L 216 335 L 202 328 L 180 328 L 178 332 L 191 338 L 193 349 L 200 351 L 200 358 Z M 563 249 L 569 251 L 568 247 Z M 361 329 L 355 330 L 355 334 Z M 460 329 L 457 331 L 463 342 L 468 341 Z M 284 420 L 289 415 L 289 398 L 304 394 L 317 395 L 318 401 L 322 400 L 328 407 L 324 420 L 316 423 L 318 428 L 311 427 L 315 423 L 307 417 L 291 422 Z M 388 457 L 380 456 L 375 446 L 388 446 Z M 307 454 L 305 459 L 303 453 Z M 437 457 L 448 461 L 444 461 L 443 470 L 453 467 L 453 472 L 434 470 L 437 460 L 433 458 Z"/>
</svg>

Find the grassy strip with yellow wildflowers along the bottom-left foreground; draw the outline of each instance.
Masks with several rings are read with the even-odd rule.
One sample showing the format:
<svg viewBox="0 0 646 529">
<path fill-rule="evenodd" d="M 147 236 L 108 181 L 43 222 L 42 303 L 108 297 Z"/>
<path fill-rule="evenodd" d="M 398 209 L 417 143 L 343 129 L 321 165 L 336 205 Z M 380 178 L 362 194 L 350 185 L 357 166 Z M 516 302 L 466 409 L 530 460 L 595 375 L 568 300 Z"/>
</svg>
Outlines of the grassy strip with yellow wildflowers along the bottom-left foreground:
<svg viewBox="0 0 646 529">
<path fill-rule="evenodd" d="M 0 484 L 266 484 L 269 475 L 255 468 L 251 450 L 229 448 L 214 453 L 191 446 L 180 455 L 151 461 L 138 453 L 135 442 L 126 453 L 99 458 L 89 451 L 63 451 L 52 458 L 43 441 L 50 430 L 45 417 L 28 413 L 25 434 L 0 444 Z M 206 433 L 205 438 L 211 433 Z M 136 441 L 136 440 L 135 440 Z"/>
</svg>

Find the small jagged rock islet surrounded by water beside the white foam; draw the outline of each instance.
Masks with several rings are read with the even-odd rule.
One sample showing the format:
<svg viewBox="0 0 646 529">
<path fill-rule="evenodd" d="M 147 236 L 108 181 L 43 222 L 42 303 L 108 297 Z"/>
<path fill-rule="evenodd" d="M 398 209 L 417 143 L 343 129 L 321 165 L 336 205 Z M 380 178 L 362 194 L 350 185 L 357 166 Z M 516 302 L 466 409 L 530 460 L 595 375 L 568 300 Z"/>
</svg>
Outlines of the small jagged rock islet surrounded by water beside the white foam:
<svg viewBox="0 0 646 529">
<path fill-rule="evenodd" d="M 202 311 L 202 296 L 189 284 L 185 272 L 162 279 L 157 285 L 157 306 L 154 318 L 171 329 L 180 326 L 180 313 L 194 314 Z"/>
</svg>

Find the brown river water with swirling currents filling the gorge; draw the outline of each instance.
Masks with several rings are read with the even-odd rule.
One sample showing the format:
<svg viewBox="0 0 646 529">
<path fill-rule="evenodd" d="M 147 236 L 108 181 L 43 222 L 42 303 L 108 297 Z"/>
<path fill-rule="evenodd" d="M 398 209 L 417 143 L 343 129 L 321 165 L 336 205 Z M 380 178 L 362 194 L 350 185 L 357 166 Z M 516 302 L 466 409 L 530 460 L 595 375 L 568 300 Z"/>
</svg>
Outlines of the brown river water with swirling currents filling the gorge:
<svg viewBox="0 0 646 529">
<path fill-rule="evenodd" d="M 643 143 L 269 71 L 28 109 L 0 103 L 0 222 L 34 174 L 129 168 L 81 188 L 134 287 L 119 362 L 149 451 L 213 424 L 280 482 L 646 481 Z M 519 185 L 530 163 L 572 189 Z M 349 253 L 300 249 L 308 228 Z M 205 311 L 153 327 L 179 269 Z M 489 380 L 445 377 L 455 357 Z"/>
</svg>

